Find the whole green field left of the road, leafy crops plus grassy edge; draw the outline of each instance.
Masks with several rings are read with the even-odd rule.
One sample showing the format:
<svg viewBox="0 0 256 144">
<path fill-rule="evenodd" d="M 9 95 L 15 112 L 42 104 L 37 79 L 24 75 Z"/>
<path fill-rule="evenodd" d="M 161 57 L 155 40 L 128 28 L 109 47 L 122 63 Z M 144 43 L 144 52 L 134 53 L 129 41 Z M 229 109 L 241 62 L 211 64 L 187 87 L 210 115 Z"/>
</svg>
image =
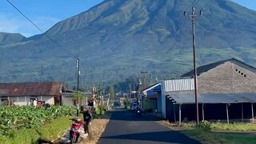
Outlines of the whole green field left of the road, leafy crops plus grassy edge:
<svg viewBox="0 0 256 144">
<path fill-rule="evenodd" d="M 70 126 L 73 106 L 1 106 L 0 143 L 34 143 L 55 140 Z"/>
</svg>

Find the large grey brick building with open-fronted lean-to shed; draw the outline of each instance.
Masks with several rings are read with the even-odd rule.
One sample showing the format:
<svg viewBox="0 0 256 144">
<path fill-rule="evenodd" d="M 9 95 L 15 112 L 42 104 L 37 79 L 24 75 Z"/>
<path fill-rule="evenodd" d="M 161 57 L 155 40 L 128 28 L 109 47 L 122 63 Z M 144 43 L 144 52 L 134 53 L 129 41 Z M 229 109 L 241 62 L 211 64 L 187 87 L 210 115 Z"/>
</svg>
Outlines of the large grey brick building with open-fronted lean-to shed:
<svg viewBox="0 0 256 144">
<path fill-rule="evenodd" d="M 197 68 L 200 120 L 254 121 L 256 68 L 235 58 Z M 162 116 L 172 122 L 195 120 L 194 70 L 162 81 Z"/>
</svg>

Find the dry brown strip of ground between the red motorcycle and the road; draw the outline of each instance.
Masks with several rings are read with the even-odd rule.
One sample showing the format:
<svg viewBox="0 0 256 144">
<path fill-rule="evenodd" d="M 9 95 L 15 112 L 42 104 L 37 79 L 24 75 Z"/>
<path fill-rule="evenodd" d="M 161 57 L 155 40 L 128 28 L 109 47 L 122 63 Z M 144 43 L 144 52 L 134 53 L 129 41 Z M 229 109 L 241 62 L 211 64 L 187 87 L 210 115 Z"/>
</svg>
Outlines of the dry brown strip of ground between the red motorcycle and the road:
<svg viewBox="0 0 256 144">
<path fill-rule="evenodd" d="M 104 118 L 95 118 L 90 126 L 89 137 L 80 142 L 80 144 L 96 144 L 98 139 L 102 136 L 102 133 L 105 131 L 106 125 L 109 121 L 110 115 L 104 116 Z"/>
</svg>

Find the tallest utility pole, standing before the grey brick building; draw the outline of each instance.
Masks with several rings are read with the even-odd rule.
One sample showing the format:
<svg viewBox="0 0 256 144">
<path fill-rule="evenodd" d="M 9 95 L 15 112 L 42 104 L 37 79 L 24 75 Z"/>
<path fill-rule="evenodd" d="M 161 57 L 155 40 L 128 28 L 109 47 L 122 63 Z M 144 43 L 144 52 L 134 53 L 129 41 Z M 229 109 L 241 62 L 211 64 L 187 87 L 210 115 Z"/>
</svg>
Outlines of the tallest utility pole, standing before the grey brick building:
<svg viewBox="0 0 256 144">
<path fill-rule="evenodd" d="M 202 15 L 202 10 L 200 10 L 200 15 Z M 184 11 L 184 16 L 186 17 L 186 11 Z M 197 73 L 197 66 L 196 66 L 196 51 L 195 51 L 195 34 L 194 34 L 194 21 L 197 17 L 194 14 L 194 6 L 192 7 L 192 14 L 189 16 L 192 20 L 192 39 L 193 39 L 193 55 L 194 55 L 194 99 L 196 105 L 196 116 L 197 116 L 197 124 L 199 124 L 199 112 L 198 112 L 198 73 Z"/>
</svg>

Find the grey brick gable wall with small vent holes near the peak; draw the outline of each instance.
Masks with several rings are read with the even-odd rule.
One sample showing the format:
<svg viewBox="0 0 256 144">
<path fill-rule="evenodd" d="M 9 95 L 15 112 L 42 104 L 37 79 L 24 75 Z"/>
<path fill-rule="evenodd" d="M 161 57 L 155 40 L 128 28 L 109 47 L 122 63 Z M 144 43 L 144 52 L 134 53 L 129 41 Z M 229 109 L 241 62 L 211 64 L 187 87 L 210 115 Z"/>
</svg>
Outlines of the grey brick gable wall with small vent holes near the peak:
<svg viewBox="0 0 256 144">
<path fill-rule="evenodd" d="M 198 76 L 199 93 L 256 93 L 256 71 L 238 62 L 225 62 Z"/>
</svg>

